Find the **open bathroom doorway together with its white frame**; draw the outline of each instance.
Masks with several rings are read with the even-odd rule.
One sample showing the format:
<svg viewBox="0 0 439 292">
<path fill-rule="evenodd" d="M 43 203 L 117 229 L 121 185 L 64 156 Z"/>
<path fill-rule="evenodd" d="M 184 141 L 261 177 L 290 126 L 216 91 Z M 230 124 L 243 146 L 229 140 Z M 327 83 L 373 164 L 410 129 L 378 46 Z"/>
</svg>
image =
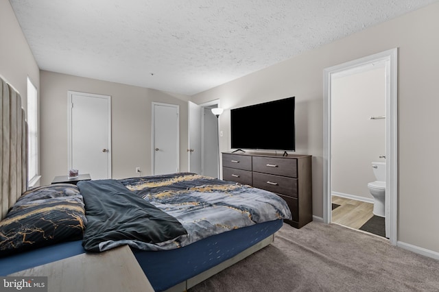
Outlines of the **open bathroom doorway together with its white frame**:
<svg viewBox="0 0 439 292">
<path fill-rule="evenodd" d="M 396 56 L 392 49 L 324 70 L 324 221 L 355 229 L 370 221 L 394 245 Z"/>
</svg>

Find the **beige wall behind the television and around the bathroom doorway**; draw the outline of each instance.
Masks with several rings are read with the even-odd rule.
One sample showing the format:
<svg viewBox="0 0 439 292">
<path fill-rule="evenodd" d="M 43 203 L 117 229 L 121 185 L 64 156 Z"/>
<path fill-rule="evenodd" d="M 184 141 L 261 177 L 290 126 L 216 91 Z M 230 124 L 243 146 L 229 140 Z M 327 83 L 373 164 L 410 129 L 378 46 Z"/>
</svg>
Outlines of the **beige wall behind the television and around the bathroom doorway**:
<svg viewBox="0 0 439 292">
<path fill-rule="evenodd" d="M 365 29 L 329 45 L 193 96 L 220 99 L 230 149 L 230 108 L 296 96 L 298 154 L 313 156 L 313 215 L 322 217 L 323 69 L 399 48 L 398 240 L 439 252 L 437 173 L 439 156 L 439 3 Z"/>
</svg>

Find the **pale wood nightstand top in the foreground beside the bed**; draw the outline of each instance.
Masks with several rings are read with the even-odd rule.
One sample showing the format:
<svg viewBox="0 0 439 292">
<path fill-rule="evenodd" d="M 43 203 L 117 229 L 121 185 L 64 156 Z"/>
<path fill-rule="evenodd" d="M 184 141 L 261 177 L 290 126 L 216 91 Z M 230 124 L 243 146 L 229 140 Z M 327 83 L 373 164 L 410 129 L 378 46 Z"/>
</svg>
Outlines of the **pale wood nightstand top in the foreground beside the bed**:
<svg viewBox="0 0 439 292">
<path fill-rule="evenodd" d="M 154 292 L 128 245 L 64 258 L 9 276 L 46 276 L 49 292 Z"/>
</svg>

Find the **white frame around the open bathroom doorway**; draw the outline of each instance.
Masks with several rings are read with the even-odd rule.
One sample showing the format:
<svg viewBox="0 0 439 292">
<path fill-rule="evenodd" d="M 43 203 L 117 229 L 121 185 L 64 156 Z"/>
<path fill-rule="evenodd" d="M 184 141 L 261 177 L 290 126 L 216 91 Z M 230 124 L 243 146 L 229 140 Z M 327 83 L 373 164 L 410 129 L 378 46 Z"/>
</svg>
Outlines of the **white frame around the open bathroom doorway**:
<svg viewBox="0 0 439 292">
<path fill-rule="evenodd" d="M 385 62 L 385 220 L 388 222 L 390 243 L 396 245 L 398 240 L 397 48 L 331 66 L 323 71 L 323 221 L 331 223 L 331 75 L 373 62 Z"/>
</svg>

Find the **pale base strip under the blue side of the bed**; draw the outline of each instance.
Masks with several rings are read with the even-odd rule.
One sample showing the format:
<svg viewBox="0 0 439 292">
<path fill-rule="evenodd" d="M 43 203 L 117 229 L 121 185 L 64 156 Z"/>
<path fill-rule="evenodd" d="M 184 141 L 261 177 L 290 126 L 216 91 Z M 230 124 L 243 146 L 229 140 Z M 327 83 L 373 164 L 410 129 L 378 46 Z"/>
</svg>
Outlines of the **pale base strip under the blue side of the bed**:
<svg viewBox="0 0 439 292">
<path fill-rule="evenodd" d="M 243 260 L 247 256 L 250 256 L 250 254 L 254 254 L 254 252 L 257 252 L 258 250 L 263 249 L 263 247 L 266 247 L 267 245 L 270 245 L 273 241 L 274 241 L 274 234 L 266 237 L 262 241 L 259 241 L 259 243 L 252 245 L 251 247 L 248 247 L 247 250 L 240 252 L 236 256 L 233 256 L 233 258 L 229 258 L 228 260 L 225 260 L 224 262 L 220 263 L 219 265 L 216 265 L 215 267 L 211 267 L 211 269 L 208 269 L 207 271 L 199 273 L 197 276 L 194 276 L 194 277 L 189 278 L 183 282 L 180 282 L 179 284 L 176 284 L 174 287 L 171 287 L 171 288 L 165 290 L 165 292 L 187 291 L 187 289 L 194 287 L 196 284 L 199 284 L 208 278 L 211 278 L 211 276 L 230 267 L 231 265 L 234 265 L 235 263 L 239 262 L 240 260 Z"/>
</svg>

